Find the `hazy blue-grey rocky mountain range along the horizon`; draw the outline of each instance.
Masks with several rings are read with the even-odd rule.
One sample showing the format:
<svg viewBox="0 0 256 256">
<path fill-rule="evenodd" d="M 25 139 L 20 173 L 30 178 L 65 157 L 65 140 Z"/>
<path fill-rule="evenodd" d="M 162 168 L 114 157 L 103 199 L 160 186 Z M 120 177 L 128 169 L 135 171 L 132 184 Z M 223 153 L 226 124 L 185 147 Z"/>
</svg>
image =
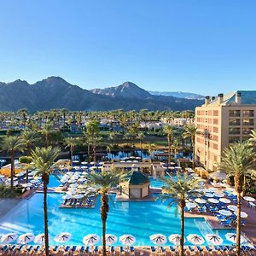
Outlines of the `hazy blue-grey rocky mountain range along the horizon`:
<svg viewBox="0 0 256 256">
<path fill-rule="evenodd" d="M 198 99 L 183 99 L 174 96 L 156 96 L 137 84 L 125 82 L 116 87 L 85 90 L 69 84 L 60 77 L 49 77 L 28 84 L 23 80 L 11 83 L 0 82 L 0 110 L 42 111 L 67 108 L 72 111 L 124 110 L 186 110 L 202 104 Z"/>
</svg>

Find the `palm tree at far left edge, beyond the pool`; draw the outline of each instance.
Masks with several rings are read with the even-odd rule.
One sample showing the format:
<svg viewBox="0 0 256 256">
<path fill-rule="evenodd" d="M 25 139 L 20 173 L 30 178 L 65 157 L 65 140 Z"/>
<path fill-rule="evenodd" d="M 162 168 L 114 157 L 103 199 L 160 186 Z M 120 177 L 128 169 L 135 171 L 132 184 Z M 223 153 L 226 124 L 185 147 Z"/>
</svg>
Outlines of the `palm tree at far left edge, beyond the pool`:
<svg viewBox="0 0 256 256">
<path fill-rule="evenodd" d="M 20 137 L 9 136 L 4 137 L 1 145 L 3 151 L 7 151 L 10 154 L 11 160 L 11 188 L 14 188 L 14 176 L 15 176 L 15 152 L 22 151 L 24 143 L 20 141 Z"/>
</svg>

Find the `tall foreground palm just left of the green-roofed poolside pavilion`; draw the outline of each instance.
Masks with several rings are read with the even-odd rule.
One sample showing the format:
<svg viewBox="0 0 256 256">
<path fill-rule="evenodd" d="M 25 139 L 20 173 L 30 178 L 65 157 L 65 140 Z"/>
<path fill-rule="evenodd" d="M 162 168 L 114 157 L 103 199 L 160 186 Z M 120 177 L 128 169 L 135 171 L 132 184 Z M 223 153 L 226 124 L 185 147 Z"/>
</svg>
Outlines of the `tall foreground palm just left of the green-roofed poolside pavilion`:
<svg viewBox="0 0 256 256">
<path fill-rule="evenodd" d="M 102 218 L 102 256 L 107 255 L 106 251 L 106 224 L 108 219 L 108 192 L 119 185 L 120 180 L 126 176 L 122 172 L 115 170 L 90 173 L 86 178 L 88 186 L 95 187 L 96 193 L 101 195 L 101 218 Z"/>
</svg>

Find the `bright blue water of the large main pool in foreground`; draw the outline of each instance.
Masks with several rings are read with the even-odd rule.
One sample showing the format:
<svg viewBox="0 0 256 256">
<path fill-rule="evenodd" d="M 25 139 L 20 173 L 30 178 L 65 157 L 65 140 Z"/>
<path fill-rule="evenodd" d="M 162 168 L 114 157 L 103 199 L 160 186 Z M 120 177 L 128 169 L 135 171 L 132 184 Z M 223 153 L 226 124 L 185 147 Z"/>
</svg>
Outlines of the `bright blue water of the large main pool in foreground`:
<svg viewBox="0 0 256 256">
<path fill-rule="evenodd" d="M 50 244 L 56 244 L 54 237 L 61 232 L 70 232 L 72 240 L 69 244 L 82 245 L 83 236 L 102 234 L 100 216 L 100 198 L 94 209 L 61 209 L 61 194 L 49 194 L 49 234 Z M 113 201 L 114 201 L 114 195 Z M 115 236 L 131 234 L 136 236 L 136 245 L 150 245 L 149 236 L 162 233 L 170 236 L 180 233 L 180 218 L 176 215 L 176 207 L 166 207 L 161 201 L 148 202 L 113 202 L 110 201 L 107 232 Z M 114 204 L 114 205 L 113 205 Z M 35 235 L 44 232 L 43 194 L 33 195 L 31 199 L 22 201 L 12 212 L 0 220 L 0 234 L 17 232 L 33 232 Z M 185 235 L 196 233 L 201 236 L 207 233 L 224 234 L 234 230 L 214 230 L 204 218 L 186 218 Z M 225 240 L 225 244 L 230 244 Z M 186 242 L 186 244 L 189 244 Z"/>
</svg>

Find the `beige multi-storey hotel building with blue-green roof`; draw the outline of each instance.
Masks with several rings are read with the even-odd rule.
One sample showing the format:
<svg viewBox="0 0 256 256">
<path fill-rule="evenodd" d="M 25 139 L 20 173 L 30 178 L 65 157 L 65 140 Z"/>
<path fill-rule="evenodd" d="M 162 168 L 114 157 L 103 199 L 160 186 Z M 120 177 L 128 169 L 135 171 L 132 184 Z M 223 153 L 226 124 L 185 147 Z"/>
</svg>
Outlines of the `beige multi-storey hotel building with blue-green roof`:
<svg viewBox="0 0 256 256">
<path fill-rule="evenodd" d="M 195 125 L 201 132 L 195 137 L 195 158 L 207 170 L 216 171 L 224 148 L 246 141 L 256 128 L 256 90 L 207 96 L 195 108 Z"/>
</svg>

